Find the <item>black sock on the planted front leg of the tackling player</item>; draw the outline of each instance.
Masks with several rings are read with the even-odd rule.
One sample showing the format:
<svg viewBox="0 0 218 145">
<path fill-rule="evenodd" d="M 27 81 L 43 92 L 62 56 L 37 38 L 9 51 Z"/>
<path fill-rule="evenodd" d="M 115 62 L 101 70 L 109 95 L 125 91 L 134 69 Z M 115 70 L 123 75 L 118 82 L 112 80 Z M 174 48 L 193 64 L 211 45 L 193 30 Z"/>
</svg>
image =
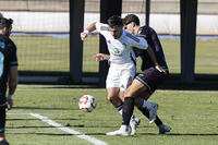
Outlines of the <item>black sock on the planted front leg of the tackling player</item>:
<svg viewBox="0 0 218 145">
<path fill-rule="evenodd" d="M 130 119 L 133 114 L 133 110 L 134 110 L 134 98 L 125 97 L 122 111 L 122 117 L 123 117 L 122 124 L 124 125 L 130 124 Z"/>
</svg>

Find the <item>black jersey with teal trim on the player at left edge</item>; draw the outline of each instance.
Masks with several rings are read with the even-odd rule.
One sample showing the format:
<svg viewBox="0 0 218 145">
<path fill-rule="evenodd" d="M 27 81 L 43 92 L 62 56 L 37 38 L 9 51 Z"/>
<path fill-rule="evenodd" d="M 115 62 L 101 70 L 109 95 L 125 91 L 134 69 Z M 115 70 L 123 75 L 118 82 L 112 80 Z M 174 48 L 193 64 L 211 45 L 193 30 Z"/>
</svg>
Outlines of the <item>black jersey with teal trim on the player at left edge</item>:
<svg viewBox="0 0 218 145">
<path fill-rule="evenodd" d="M 17 65 L 16 46 L 5 35 L 0 34 L 0 105 L 5 101 L 9 69 Z"/>
</svg>

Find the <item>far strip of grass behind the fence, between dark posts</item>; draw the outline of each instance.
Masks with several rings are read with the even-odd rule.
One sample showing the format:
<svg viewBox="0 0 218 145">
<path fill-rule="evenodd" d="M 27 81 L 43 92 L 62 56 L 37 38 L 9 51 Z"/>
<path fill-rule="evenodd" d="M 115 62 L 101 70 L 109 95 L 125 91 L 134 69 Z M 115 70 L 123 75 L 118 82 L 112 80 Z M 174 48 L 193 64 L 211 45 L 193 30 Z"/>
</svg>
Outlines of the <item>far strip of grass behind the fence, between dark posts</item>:
<svg viewBox="0 0 218 145">
<path fill-rule="evenodd" d="M 20 71 L 69 72 L 69 38 L 39 36 L 12 36 L 17 46 Z M 171 73 L 180 73 L 180 39 L 160 39 Z M 217 74 L 217 39 L 196 41 L 195 73 Z M 98 72 L 98 63 L 93 58 L 99 52 L 99 38 L 84 40 L 83 71 Z M 141 61 L 138 59 L 137 72 Z"/>
</svg>

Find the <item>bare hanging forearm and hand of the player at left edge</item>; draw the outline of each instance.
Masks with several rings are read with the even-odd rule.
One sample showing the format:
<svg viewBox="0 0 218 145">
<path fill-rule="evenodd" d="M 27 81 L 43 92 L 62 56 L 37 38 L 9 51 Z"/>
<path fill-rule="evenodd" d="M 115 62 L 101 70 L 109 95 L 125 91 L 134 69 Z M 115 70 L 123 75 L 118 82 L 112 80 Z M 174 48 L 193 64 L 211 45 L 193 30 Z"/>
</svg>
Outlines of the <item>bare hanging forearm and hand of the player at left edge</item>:
<svg viewBox="0 0 218 145">
<path fill-rule="evenodd" d="M 9 72 L 9 94 L 7 97 L 7 102 L 9 105 L 8 110 L 13 108 L 13 95 L 15 93 L 19 82 L 17 65 L 10 67 Z"/>
</svg>

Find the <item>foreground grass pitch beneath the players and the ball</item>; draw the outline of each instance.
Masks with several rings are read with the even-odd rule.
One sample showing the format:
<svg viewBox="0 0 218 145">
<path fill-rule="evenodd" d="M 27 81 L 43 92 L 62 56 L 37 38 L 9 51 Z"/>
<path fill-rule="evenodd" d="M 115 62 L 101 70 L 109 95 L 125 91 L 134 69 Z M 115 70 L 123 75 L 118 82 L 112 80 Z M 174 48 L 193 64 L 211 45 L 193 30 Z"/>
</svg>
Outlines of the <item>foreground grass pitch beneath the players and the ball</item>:
<svg viewBox="0 0 218 145">
<path fill-rule="evenodd" d="M 78 110 L 78 99 L 85 94 L 97 99 L 94 112 Z M 157 135 L 156 125 L 149 124 L 148 119 L 135 110 L 134 114 L 142 119 L 138 131 L 134 136 L 123 137 L 105 135 L 121 124 L 121 116 L 106 100 L 105 89 L 19 85 L 14 109 L 8 111 L 7 138 L 11 145 L 89 145 L 93 144 L 89 136 L 95 138 L 94 143 L 98 141 L 108 145 L 217 145 L 217 90 L 159 89 L 150 101 L 159 104 L 158 116 L 172 128 L 171 132 Z M 62 126 L 52 125 L 55 123 Z M 61 129 L 87 136 L 84 140 L 81 134 L 72 135 Z"/>
</svg>

